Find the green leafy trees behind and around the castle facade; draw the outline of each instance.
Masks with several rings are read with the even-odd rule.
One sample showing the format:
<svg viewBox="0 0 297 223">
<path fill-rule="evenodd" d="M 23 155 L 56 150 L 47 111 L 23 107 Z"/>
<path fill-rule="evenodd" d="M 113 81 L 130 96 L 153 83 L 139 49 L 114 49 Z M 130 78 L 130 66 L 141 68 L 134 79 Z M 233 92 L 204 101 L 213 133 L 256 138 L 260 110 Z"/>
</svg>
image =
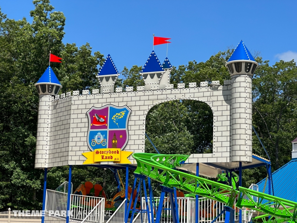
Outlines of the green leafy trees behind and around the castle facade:
<svg viewBox="0 0 297 223">
<path fill-rule="evenodd" d="M 15 21 L 0 10 L 0 209 L 40 209 L 43 173 L 34 169 L 38 94 L 34 83 L 48 66 L 49 51 L 63 58 L 51 64 L 63 88 L 60 93 L 98 89 L 96 74 L 104 55 L 92 52 L 89 43 L 77 46 L 63 44 L 65 17 L 54 11 L 49 0 L 34 0 L 26 18 Z M 170 82 L 217 81 L 230 79 L 225 63 L 233 49 L 219 51 L 205 62 L 189 61 L 173 67 Z M 291 143 L 296 134 L 296 71 L 294 61 L 276 62 L 256 58 L 259 67 L 253 77 L 253 125 L 277 169 L 290 158 Z M 141 67 L 124 67 L 116 87 L 143 86 Z M 161 153 L 209 153 L 212 150 L 213 115 L 206 103 L 192 100 L 169 101 L 153 106 L 146 116 L 146 133 Z M 146 139 L 145 151 L 156 153 Z M 266 157 L 256 136 L 253 152 Z M 123 182 L 125 174 L 119 170 Z M 132 176 L 132 171 L 130 173 Z M 244 186 L 266 177 L 265 168 L 244 171 Z M 68 167 L 48 171 L 48 188 L 56 189 L 68 179 Z M 74 166 L 72 183 L 75 189 L 86 180 L 100 183 L 109 198 L 116 192 L 116 182 L 109 169 Z M 133 177 L 129 179 L 132 185 Z M 155 183 L 155 182 L 154 182 Z M 156 190 L 159 193 L 158 189 Z M 157 195 L 156 194 L 156 195 Z"/>
</svg>

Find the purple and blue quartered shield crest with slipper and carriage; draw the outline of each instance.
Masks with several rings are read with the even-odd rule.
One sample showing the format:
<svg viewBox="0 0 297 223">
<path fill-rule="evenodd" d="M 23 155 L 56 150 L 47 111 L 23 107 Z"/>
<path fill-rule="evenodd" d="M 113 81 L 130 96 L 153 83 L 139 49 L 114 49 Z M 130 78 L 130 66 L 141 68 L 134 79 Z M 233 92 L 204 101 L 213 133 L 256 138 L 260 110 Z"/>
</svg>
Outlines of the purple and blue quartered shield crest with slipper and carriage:
<svg viewBox="0 0 297 223">
<path fill-rule="evenodd" d="M 128 142 L 128 118 L 131 110 L 127 106 L 106 105 L 92 107 L 88 112 L 88 146 L 92 151 L 104 148 L 120 148 Z"/>
</svg>

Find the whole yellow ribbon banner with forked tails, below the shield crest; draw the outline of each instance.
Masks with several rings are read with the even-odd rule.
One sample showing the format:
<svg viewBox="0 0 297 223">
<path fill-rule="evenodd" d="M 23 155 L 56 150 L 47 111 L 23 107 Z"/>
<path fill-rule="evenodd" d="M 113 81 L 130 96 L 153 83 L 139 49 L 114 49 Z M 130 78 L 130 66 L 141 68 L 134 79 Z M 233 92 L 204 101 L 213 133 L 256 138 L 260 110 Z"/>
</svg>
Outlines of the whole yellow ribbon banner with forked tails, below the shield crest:
<svg viewBox="0 0 297 223">
<path fill-rule="evenodd" d="M 97 150 L 100 151 L 100 150 L 109 150 L 109 149 L 97 149 Z M 95 151 L 97 151 L 97 150 L 95 150 Z M 115 149 L 110 149 L 110 150 L 115 150 Z M 116 161 L 115 160 L 110 160 L 110 161 L 113 161 L 114 163 L 118 163 L 118 164 L 131 164 L 131 162 L 128 160 L 128 157 L 132 154 L 132 152 L 123 151 L 121 149 L 116 149 L 116 150 L 120 150 L 119 160 L 116 160 Z M 95 154 L 96 153 L 95 151 L 82 153 L 82 155 L 87 158 L 86 161 L 83 162 L 83 164 L 100 164 L 100 161 L 95 161 L 95 156 L 98 156 L 98 155 L 101 155 L 101 156 L 102 155 L 104 155 L 104 156 L 113 156 L 113 159 L 115 158 L 114 153 L 100 154 L 100 152 L 99 152 L 98 154 Z M 118 155 L 118 154 L 116 154 L 116 155 Z M 101 161 L 109 161 L 109 160 L 102 159 Z"/>
</svg>

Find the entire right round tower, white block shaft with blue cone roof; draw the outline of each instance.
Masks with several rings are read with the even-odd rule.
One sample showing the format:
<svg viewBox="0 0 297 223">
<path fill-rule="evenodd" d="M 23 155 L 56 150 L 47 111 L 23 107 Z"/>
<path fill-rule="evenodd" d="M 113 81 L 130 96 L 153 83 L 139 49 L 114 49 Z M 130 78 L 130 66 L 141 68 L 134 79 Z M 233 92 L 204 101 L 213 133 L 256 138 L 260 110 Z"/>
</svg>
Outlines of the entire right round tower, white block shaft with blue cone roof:
<svg viewBox="0 0 297 223">
<path fill-rule="evenodd" d="M 258 63 L 241 41 L 225 65 L 231 75 L 232 162 L 252 162 L 252 75 Z"/>
</svg>

